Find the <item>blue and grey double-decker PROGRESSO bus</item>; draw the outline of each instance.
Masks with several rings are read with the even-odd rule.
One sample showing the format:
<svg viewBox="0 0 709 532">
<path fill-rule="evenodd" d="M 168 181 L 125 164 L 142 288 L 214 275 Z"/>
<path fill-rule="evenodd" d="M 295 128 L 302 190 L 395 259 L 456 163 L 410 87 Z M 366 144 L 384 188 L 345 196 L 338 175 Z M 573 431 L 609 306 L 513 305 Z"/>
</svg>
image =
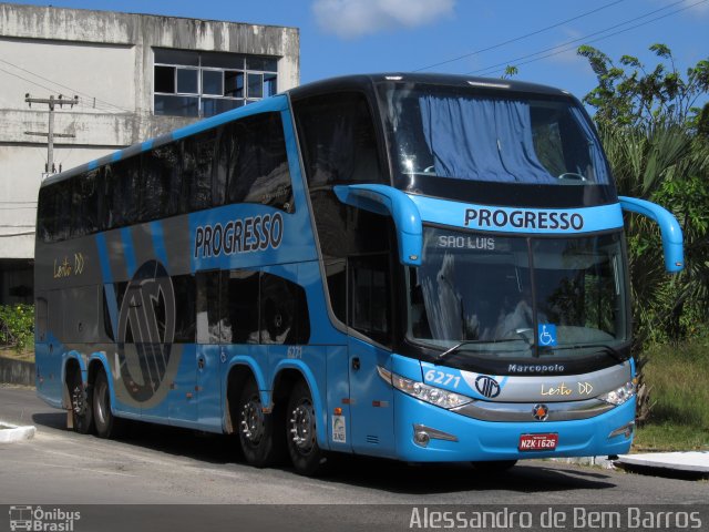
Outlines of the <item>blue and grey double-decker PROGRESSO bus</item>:
<svg viewBox="0 0 709 532">
<path fill-rule="evenodd" d="M 37 389 L 79 432 L 236 433 L 248 463 L 630 446 L 624 211 L 582 105 L 430 74 L 294 89 L 47 180 Z"/>
</svg>

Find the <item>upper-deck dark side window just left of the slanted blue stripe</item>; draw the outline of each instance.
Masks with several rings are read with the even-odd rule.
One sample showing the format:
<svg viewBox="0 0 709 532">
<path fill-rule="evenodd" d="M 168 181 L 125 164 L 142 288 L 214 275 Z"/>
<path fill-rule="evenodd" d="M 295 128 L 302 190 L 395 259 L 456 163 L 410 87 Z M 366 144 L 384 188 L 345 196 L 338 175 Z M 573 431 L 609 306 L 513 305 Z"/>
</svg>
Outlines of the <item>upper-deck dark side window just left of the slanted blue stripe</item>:
<svg viewBox="0 0 709 532">
<path fill-rule="evenodd" d="M 224 144 L 229 151 L 228 201 L 291 212 L 292 188 L 280 114 L 239 120 L 229 133 L 235 139 Z"/>
</svg>

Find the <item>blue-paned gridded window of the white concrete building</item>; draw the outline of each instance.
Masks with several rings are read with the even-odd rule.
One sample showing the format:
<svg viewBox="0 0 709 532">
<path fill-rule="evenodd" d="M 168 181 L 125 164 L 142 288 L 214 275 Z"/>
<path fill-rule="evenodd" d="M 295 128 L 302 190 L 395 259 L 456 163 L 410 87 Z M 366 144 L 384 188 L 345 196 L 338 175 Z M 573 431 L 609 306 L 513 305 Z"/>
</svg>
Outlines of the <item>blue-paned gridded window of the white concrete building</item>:
<svg viewBox="0 0 709 532">
<path fill-rule="evenodd" d="M 154 49 L 157 115 L 214 116 L 276 94 L 276 58 Z"/>
</svg>

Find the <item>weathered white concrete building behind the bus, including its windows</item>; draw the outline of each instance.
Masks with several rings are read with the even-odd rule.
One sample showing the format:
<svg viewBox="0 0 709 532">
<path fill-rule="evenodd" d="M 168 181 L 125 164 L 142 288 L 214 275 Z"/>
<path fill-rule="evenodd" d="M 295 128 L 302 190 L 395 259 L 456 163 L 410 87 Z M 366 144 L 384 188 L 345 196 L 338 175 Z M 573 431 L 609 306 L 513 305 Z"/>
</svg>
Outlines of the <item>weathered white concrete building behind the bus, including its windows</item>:
<svg viewBox="0 0 709 532">
<path fill-rule="evenodd" d="M 32 300 L 47 173 L 298 82 L 295 28 L 0 3 L 0 304 Z"/>
</svg>

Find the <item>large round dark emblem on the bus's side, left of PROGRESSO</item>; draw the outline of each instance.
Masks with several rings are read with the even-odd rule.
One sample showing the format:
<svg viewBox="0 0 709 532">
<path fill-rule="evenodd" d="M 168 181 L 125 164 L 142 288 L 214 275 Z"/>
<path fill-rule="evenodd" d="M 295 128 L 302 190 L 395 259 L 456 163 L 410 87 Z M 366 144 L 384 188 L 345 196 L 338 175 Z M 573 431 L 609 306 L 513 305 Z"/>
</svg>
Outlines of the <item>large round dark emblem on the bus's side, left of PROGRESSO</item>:
<svg viewBox="0 0 709 532">
<path fill-rule="evenodd" d="M 125 288 L 119 315 L 121 378 L 136 401 L 147 401 L 162 385 L 174 338 L 173 283 L 161 263 L 148 260 Z"/>
</svg>

